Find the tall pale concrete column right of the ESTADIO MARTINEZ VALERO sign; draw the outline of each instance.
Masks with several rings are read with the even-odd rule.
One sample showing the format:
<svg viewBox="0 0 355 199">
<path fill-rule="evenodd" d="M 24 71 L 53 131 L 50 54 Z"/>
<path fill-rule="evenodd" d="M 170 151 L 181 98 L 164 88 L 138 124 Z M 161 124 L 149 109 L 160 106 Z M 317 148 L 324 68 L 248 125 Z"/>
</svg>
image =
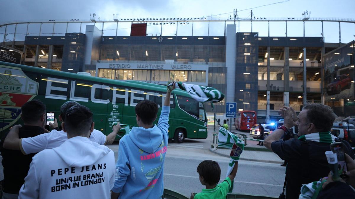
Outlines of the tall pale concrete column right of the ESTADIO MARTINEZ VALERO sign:
<svg viewBox="0 0 355 199">
<path fill-rule="evenodd" d="M 228 95 L 225 102 L 235 102 L 235 56 L 236 56 L 236 25 L 228 24 L 226 31 L 225 65 L 227 67 Z"/>
</svg>

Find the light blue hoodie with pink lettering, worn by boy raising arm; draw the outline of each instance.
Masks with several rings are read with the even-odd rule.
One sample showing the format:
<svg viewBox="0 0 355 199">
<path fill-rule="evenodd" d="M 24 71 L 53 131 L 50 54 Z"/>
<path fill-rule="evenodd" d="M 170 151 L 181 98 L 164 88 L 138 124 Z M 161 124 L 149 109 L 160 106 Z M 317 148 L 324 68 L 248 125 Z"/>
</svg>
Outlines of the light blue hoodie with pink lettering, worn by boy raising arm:
<svg viewBox="0 0 355 199">
<path fill-rule="evenodd" d="M 163 106 L 158 126 L 133 127 L 120 140 L 116 163 L 115 186 L 119 198 L 161 198 L 164 192 L 163 171 L 168 146 L 170 107 Z"/>
</svg>

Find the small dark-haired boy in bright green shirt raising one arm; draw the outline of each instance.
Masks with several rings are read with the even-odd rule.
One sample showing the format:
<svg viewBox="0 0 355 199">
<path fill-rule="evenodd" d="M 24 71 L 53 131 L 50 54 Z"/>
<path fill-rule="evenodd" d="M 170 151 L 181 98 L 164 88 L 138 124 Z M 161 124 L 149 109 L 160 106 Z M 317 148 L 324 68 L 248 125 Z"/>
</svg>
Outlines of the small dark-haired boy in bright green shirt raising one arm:
<svg viewBox="0 0 355 199">
<path fill-rule="evenodd" d="M 201 193 L 191 193 L 190 199 L 225 199 L 238 170 L 236 161 L 231 174 L 218 184 L 221 169 L 216 161 L 204 160 L 197 166 L 200 182 L 206 186 Z"/>
</svg>

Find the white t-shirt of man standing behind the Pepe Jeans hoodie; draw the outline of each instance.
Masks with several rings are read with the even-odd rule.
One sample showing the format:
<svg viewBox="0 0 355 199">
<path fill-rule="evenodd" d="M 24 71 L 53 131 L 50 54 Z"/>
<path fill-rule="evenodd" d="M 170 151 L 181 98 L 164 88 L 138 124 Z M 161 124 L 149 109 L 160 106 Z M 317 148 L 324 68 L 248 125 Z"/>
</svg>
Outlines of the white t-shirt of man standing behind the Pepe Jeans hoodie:
<svg viewBox="0 0 355 199">
<path fill-rule="evenodd" d="M 93 130 L 89 139 L 100 145 L 106 142 L 104 133 L 98 130 Z M 22 138 L 21 145 L 23 152 L 26 154 L 38 153 L 44 149 L 53 149 L 59 147 L 63 142 L 68 140 L 67 134 L 64 131 L 52 130 L 49 133 L 43 133 L 35 137 Z"/>
</svg>

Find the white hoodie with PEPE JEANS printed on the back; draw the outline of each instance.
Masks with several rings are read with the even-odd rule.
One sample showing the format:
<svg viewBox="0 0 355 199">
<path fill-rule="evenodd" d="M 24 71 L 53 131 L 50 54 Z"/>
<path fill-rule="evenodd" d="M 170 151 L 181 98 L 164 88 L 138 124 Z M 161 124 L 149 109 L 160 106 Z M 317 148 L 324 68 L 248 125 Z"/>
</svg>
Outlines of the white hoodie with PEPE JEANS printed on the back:
<svg viewBox="0 0 355 199">
<path fill-rule="evenodd" d="M 87 137 L 36 154 L 18 198 L 105 198 L 115 183 L 111 149 Z"/>
</svg>

